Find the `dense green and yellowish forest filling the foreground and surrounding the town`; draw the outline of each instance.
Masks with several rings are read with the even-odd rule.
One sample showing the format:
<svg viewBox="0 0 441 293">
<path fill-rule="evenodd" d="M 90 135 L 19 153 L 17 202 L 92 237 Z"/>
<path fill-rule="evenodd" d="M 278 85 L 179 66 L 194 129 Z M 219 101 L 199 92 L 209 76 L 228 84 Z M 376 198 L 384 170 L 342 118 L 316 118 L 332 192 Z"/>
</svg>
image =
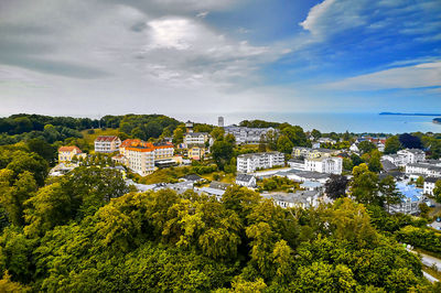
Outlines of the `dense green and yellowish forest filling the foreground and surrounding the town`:
<svg viewBox="0 0 441 293">
<path fill-rule="evenodd" d="M 15 126 L 2 134 L 19 141 L 0 145 L 1 292 L 441 290 L 423 278 L 419 257 L 402 247 L 410 243 L 438 256 L 441 236 L 427 228 L 430 219 L 424 216 L 386 211 L 399 196 L 391 177 L 378 176 L 378 151 L 372 145 L 348 159 L 351 181 L 334 176 L 326 184 L 333 204 L 281 208 L 238 186 L 229 187 L 219 202 L 191 191 L 139 193 L 126 185 L 119 171 L 94 160 L 49 177 L 57 145 L 86 140 L 83 133 L 90 130 L 80 122 L 55 120 L 47 120 L 53 124 L 43 130 L 37 126 L 19 133 Z M 183 131 L 174 119 L 154 115 L 107 116 L 100 123 L 127 137 L 176 139 Z M 233 169 L 235 156 L 250 151 L 234 146 L 233 138 L 217 128 L 196 127 L 212 130 L 214 158 L 209 165 L 194 163 L 185 174 Z M 278 139 L 262 144 L 266 150 L 306 145 L 306 134 L 300 127 L 283 126 Z M 336 135 L 352 139 L 348 133 Z M 389 148 L 402 148 L 399 137 L 391 138 Z M 420 139 L 406 139 L 415 138 Z M 438 137 L 420 141 L 427 145 Z M 161 172 L 174 178 L 178 169 Z M 292 184 L 265 181 L 262 188 L 287 189 Z"/>
</svg>

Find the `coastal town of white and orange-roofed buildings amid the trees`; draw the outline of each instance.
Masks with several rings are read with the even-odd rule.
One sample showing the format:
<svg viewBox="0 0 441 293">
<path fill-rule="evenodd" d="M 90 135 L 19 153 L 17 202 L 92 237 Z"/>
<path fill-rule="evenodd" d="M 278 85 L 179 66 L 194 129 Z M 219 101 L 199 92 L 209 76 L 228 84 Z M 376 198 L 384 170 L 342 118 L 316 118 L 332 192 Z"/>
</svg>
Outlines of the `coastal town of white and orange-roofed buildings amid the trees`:
<svg viewBox="0 0 441 293">
<path fill-rule="evenodd" d="M 286 152 L 283 146 L 283 152 L 280 152 L 277 151 L 280 150 L 278 145 L 275 150 L 269 150 L 267 145 L 271 139 L 277 141 L 280 135 L 284 138 L 279 129 L 272 127 L 224 126 L 224 118 L 219 117 L 217 128 L 213 128 L 212 131 L 217 134 L 196 132 L 194 123 L 187 121 L 182 142 L 175 144 L 172 137 L 146 142 L 132 138 L 121 141 L 116 135 L 98 135 L 94 141 L 93 153 L 111 158 L 112 167 L 120 170 L 125 174 L 126 183 L 139 192 L 171 188 L 183 193 L 191 189 L 220 199 L 227 187 L 236 184 L 259 192 L 261 196 L 272 199 L 281 207 L 304 208 L 332 203 L 336 197 L 330 194 L 326 185 L 331 186 L 334 181 L 348 182 L 353 178 L 351 167 L 355 166 L 354 159 L 361 163 L 366 162 L 363 156 L 369 156 L 369 169 L 376 163 L 377 167 L 374 171 L 379 178 L 391 176 L 395 181 L 399 200 L 388 206 L 389 213 L 419 215 L 421 205 L 435 206 L 433 189 L 437 188 L 437 182 L 438 188 L 441 186 L 441 160 L 427 159 L 426 152 L 420 149 L 397 149 L 385 153 L 387 137 L 353 135 L 344 140 L 306 132 L 305 135 L 309 137 L 305 144 L 311 146 L 292 146 L 288 149 L 289 152 Z M 246 150 L 245 153 L 230 159 L 236 162 L 234 171 L 229 174 L 224 172 L 223 175 L 219 175 L 212 153 L 215 141 L 219 140 L 219 133 L 222 140 L 229 137 L 234 148 Z M 395 140 L 396 137 L 389 138 L 390 143 Z M 254 152 L 255 150 L 259 152 Z M 66 174 L 82 165 L 90 155 L 75 145 L 61 146 L 58 164 L 51 175 Z M 374 162 L 375 156 L 377 162 Z M 208 174 L 185 174 L 174 178 L 178 181 L 174 183 L 169 181 L 142 184 L 142 177 L 154 176 L 154 172 L 194 165 L 205 165 L 215 171 Z M 127 177 L 127 172 L 139 176 Z M 235 177 L 232 176 L 234 174 Z M 213 175 L 217 176 L 217 180 L 225 180 L 216 181 Z M 278 185 L 279 180 L 283 181 L 283 187 Z M 269 182 L 273 183 L 273 186 Z M 349 185 L 344 185 L 343 189 L 348 193 Z M 441 224 L 437 221 L 431 225 L 441 229 Z"/>
</svg>

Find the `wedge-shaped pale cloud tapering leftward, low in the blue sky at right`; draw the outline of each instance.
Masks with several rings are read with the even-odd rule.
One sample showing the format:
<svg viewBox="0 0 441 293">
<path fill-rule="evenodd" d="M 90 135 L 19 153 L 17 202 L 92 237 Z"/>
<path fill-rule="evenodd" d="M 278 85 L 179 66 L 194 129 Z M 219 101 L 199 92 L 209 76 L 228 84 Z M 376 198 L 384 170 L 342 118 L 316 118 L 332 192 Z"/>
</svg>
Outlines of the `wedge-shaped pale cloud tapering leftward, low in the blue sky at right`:
<svg viewBox="0 0 441 293">
<path fill-rule="evenodd" d="M 323 85 L 343 90 L 378 90 L 441 87 L 441 62 L 422 63 L 359 75 Z"/>
</svg>

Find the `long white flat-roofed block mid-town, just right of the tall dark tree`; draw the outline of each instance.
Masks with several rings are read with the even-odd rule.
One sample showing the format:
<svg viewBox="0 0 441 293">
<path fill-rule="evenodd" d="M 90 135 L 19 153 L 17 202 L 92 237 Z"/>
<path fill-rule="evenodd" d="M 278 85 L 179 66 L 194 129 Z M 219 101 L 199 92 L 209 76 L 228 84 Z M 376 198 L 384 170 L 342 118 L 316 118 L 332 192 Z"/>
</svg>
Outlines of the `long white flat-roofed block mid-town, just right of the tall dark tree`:
<svg viewBox="0 0 441 293">
<path fill-rule="evenodd" d="M 284 165 L 284 154 L 280 152 L 248 153 L 237 156 L 237 172 L 252 173 L 259 169 Z"/>
</svg>

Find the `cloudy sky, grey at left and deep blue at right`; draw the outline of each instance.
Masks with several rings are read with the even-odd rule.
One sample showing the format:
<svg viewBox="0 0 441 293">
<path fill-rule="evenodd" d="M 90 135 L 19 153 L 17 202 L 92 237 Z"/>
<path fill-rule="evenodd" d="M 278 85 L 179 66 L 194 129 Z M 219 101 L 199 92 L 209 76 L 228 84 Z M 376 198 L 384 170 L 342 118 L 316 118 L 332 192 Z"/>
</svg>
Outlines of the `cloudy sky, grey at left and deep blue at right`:
<svg viewBox="0 0 441 293">
<path fill-rule="evenodd" d="M 440 0 L 0 0 L 0 116 L 440 112 Z"/>
</svg>

